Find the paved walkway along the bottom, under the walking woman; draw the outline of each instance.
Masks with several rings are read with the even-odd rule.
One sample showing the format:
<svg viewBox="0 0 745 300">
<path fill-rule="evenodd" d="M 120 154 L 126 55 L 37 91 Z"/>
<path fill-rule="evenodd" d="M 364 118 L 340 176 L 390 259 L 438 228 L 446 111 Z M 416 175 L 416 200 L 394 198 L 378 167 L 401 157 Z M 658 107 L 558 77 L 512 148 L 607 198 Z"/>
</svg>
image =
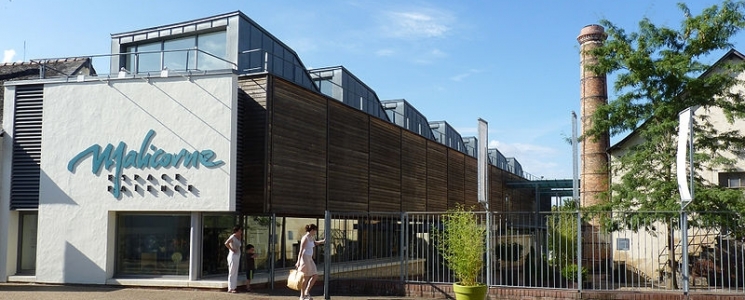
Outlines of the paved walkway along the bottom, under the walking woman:
<svg viewBox="0 0 745 300">
<path fill-rule="evenodd" d="M 314 287 L 315 300 L 323 300 L 323 286 Z M 0 299 L 13 300 L 298 300 L 299 292 L 292 291 L 286 287 L 275 290 L 261 289 L 253 292 L 230 294 L 216 289 L 194 289 L 194 288 L 140 288 L 121 286 L 98 286 L 98 285 L 47 285 L 33 283 L 0 283 Z M 332 296 L 334 300 L 404 300 L 412 299 L 405 297 L 380 297 L 380 296 Z"/>
</svg>

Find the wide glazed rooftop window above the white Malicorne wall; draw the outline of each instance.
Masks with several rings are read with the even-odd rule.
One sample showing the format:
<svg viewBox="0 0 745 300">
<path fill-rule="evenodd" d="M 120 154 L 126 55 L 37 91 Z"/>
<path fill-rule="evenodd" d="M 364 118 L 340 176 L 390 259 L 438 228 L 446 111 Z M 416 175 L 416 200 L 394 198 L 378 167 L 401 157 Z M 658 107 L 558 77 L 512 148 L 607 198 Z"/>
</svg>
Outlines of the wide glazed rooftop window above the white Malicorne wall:
<svg viewBox="0 0 745 300">
<path fill-rule="evenodd" d="M 225 31 L 127 46 L 124 67 L 131 72 L 217 70 L 230 68 Z M 197 51 L 199 50 L 199 51 Z"/>
</svg>

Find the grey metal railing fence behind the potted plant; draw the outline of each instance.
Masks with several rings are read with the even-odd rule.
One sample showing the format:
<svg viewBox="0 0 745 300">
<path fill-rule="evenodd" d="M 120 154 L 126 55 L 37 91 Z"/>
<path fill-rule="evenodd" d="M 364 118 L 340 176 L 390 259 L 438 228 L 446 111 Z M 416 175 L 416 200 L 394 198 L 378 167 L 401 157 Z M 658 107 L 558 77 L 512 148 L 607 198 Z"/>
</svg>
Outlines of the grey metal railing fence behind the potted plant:
<svg viewBox="0 0 745 300">
<path fill-rule="evenodd" d="M 329 213 L 329 279 L 454 282 L 433 236 L 442 229 L 442 214 Z M 476 212 L 482 224 L 486 216 Z M 687 249 L 679 216 L 639 211 L 491 213 L 487 264 L 480 280 L 490 286 L 526 288 L 745 293 L 742 236 L 696 222 L 737 216 L 690 213 Z M 689 276 L 681 275 L 684 271 Z"/>
</svg>

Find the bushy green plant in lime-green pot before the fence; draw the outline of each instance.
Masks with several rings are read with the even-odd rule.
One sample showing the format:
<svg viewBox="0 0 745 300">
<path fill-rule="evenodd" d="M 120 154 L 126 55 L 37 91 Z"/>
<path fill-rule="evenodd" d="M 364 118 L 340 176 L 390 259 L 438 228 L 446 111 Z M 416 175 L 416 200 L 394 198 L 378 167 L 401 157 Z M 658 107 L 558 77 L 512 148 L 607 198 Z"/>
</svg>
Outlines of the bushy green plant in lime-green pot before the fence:
<svg viewBox="0 0 745 300">
<path fill-rule="evenodd" d="M 484 267 L 486 228 L 472 209 L 457 205 L 442 216 L 438 248 L 453 275 L 458 300 L 483 300 L 488 287 L 479 282 Z"/>
</svg>

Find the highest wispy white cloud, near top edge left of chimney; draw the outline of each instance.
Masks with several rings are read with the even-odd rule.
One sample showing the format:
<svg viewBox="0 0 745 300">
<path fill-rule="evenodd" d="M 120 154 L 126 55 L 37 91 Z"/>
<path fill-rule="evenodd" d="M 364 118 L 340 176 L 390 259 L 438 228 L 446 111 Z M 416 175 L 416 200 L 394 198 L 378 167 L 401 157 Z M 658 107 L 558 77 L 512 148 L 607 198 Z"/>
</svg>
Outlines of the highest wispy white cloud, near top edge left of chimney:
<svg viewBox="0 0 745 300">
<path fill-rule="evenodd" d="M 383 35 L 400 39 L 438 38 L 450 31 L 450 14 L 425 9 L 423 11 L 394 11 L 385 14 L 381 26 Z"/>
</svg>

